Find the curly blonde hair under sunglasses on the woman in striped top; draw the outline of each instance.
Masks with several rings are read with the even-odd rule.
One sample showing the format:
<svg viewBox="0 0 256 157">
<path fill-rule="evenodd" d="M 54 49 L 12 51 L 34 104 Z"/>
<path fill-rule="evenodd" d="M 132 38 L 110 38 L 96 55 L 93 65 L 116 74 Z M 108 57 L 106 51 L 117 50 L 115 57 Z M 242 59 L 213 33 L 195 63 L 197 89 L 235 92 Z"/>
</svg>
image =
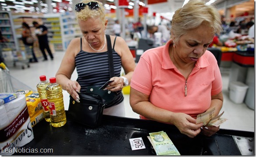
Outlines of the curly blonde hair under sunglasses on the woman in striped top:
<svg viewBox="0 0 256 157">
<path fill-rule="evenodd" d="M 99 3 L 99 9 L 91 10 L 89 6 L 85 6 L 84 9 L 80 10 L 80 12 L 75 11 L 77 20 L 86 21 L 89 18 L 100 17 L 102 24 L 104 25 L 106 22 L 105 18 L 105 10 L 103 4 L 97 0 L 81 0 L 79 3 L 89 3 L 89 2 L 97 2 Z"/>
</svg>

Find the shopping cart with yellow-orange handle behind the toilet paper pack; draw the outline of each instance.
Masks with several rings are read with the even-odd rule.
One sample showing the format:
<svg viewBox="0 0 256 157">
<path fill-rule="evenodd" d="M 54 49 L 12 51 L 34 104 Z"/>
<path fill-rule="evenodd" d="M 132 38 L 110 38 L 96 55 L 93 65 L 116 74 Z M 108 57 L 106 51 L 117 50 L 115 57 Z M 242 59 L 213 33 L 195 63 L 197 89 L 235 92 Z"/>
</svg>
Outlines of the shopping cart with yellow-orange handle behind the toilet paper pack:
<svg viewBox="0 0 256 157">
<path fill-rule="evenodd" d="M 4 63 L 0 63 L 0 93 L 16 92 L 19 90 L 36 91 L 36 89 L 32 89 L 18 79 L 12 77 L 7 66 Z"/>
</svg>

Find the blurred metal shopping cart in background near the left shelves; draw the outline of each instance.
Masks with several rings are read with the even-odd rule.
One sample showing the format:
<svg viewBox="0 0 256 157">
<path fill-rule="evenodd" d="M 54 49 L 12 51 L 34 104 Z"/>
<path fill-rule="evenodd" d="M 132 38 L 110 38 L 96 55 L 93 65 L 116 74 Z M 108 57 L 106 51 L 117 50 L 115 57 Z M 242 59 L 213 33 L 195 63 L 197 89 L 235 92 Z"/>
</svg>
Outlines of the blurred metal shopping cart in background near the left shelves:
<svg viewBox="0 0 256 157">
<path fill-rule="evenodd" d="M 21 66 L 22 69 L 30 67 L 25 50 L 11 46 L 10 42 L 4 42 L 0 46 L 2 46 L 2 57 L 7 67 Z"/>
</svg>

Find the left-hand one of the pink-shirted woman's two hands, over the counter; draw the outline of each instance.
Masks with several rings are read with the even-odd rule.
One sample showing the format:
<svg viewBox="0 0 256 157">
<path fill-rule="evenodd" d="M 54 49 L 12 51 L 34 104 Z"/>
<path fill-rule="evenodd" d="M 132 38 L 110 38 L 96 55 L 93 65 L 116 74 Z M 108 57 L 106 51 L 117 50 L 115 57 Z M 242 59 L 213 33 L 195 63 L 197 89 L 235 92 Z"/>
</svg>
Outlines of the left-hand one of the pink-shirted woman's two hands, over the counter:
<svg viewBox="0 0 256 157">
<path fill-rule="evenodd" d="M 181 133 L 188 137 L 195 137 L 201 132 L 203 123 L 196 124 L 196 119 L 185 113 L 174 113 L 173 124 L 180 130 Z"/>
</svg>

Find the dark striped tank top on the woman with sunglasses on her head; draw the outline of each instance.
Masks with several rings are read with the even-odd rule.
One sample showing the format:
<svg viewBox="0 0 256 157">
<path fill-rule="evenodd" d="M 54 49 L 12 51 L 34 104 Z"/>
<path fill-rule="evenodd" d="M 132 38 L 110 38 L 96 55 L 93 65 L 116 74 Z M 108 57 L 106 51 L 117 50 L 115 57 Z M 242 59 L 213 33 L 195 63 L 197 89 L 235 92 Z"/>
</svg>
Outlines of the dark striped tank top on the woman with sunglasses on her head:
<svg viewBox="0 0 256 157">
<path fill-rule="evenodd" d="M 112 49 L 114 75 L 120 77 L 121 57 L 114 51 L 115 41 L 116 38 Z M 77 82 L 81 86 L 80 91 L 85 93 L 88 86 L 101 87 L 104 83 L 110 80 L 110 70 L 108 65 L 108 52 L 85 52 L 82 50 L 82 38 L 80 39 L 80 43 L 80 52 L 75 56 L 75 67 L 78 73 Z M 117 105 L 123 100 L 124 97 L 122 92 L 117 91 L 116 100 L 105 108 Z"/>
</svg>

